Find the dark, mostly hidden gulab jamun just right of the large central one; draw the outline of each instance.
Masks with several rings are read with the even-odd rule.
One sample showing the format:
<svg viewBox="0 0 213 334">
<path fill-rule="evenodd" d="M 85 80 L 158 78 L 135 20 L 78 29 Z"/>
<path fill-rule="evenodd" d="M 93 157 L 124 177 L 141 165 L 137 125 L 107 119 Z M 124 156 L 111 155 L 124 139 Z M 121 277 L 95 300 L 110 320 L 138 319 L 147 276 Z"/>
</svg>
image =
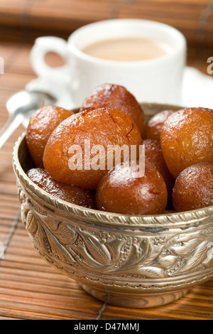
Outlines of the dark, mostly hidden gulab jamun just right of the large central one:
<svg viewBox="0 0 213 334">
<path fill-rule="evenodd" d="M 168 197 L 172 196 L 175 178 L 171 176 L 168 166 L 166 166 L 160 141 L 145 139 L 143 145 L 145 146 L 145 163 L 151 164 L 163 176 L 168 190 Z"/>
</svg>

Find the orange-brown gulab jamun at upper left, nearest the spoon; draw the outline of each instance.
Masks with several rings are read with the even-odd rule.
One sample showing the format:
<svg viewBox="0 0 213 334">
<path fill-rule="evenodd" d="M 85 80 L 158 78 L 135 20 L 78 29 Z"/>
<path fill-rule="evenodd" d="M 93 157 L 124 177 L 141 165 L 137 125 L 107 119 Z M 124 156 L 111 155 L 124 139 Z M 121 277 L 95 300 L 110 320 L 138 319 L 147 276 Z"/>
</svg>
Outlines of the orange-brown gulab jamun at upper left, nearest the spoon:
<svg viewBox="0 0 213 334">
<path fill-rule="evenodd" d="M 33 114 L 28 124 L 26 141 L 36 167 L 43 167 L 43 152 L 50 134 L 72 111 L 57 106 L 43 107 Z"/>
</svg>

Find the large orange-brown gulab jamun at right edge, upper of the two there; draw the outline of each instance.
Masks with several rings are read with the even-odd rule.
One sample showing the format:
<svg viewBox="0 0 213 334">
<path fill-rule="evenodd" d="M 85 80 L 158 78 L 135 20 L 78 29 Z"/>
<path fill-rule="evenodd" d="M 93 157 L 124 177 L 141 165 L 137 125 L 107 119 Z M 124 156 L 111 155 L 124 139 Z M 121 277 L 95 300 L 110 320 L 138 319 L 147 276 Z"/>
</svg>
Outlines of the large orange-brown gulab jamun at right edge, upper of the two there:
<svg viewBox="0 0 213 334">
<path fill-rule="evenodd" d="M 194 107 L 174 112 L 163 125 L 160 144 L 174 178 L 188 166 L 213 161 L 213 110 Z"/>
</svg>

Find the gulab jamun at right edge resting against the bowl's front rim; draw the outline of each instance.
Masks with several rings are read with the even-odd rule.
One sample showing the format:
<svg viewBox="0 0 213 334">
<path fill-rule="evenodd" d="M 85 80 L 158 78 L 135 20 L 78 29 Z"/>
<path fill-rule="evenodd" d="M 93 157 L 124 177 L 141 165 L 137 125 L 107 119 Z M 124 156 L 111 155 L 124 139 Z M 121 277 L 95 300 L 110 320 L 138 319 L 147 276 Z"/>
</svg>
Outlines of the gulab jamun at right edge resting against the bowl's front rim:
<svg viewBox="0 0 213 334">
<path fill-rule="evenodd" d="M 185 168 L 175 181 L 173 206 L 188 211 L 213 205 L 213 161 Z"/>
</svg>

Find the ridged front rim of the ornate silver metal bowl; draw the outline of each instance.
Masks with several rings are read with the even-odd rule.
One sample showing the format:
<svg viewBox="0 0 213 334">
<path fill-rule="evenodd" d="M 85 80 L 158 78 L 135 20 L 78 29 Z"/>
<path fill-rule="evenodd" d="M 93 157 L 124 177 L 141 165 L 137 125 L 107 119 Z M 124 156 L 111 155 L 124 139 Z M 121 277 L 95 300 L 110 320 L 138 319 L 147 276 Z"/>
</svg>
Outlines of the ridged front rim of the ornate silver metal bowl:
<svg viewBox="0 0 213 334">
<path fill-rule="evenodd" d="M 27 187 L 33 195 L 45 201 L 46 204 L 59 208 L 72 214 L 77 219 L 87 220 L 98 224 L 109 226 L 120 225 L 122 227 L 151 227 L 151 228 L 168 228 L 168 227 L 190 227 L 197 223 L 205 222 L 209 217 L 213 220 L 213 205 L 197 210 L 190 210 L 185 212 L 168 212 L 160 215 L 127 215 L 114 212 L 104 212 L 96 209 L 83 208 L 80 205 L 68 203 L 65 200 L 60 200 L 53 195 L 45 192 L 45 190 L 35 185 L 33 181 L 23 171 L 21 163 L 18 158 L 18 151 L 21 143 L 26 140 L 26 131 L 19 136 L 16 144 L 13 147 L 13 171 L 16 174 L 18 181 Z"/>
</svg>

